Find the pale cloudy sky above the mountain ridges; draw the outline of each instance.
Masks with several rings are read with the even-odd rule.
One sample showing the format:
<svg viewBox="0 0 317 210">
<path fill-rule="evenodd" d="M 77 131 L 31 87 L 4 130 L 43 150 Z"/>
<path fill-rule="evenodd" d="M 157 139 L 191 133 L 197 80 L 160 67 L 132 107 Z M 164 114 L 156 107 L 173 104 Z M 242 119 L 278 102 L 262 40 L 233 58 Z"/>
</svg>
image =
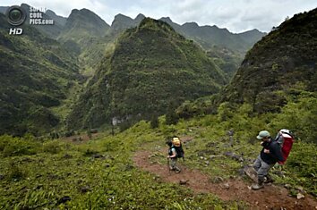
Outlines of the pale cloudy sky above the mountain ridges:
<svg viewBox="0 0 317 210">
<path fill-rule="evenodd" d="M 68 17 L 73 9 L 87 8 L 109 25 L 118 13 L 135 18 L 139 13 L 178 24 L 195 21 L 217 25 L 234 33 L 250 29 L 270 32 L 287 17 L 317 7 L 317 0 L 1 0 L 1 6 L 26 3 Z"/>
</svg>

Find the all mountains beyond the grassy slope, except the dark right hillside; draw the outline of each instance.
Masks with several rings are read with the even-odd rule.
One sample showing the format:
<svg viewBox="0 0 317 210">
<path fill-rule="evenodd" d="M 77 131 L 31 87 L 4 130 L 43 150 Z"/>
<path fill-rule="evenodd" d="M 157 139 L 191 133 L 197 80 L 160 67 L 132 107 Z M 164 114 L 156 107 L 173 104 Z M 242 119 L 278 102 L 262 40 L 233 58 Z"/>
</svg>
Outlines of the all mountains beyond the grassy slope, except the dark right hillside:
<svg viewBox="0 0 317 210">
<path fill-rule="evenodd" d="M 74 9 L 68 18 L 48 10 L 44 18 L 55 25 L 26 21 L 19 37 L 8 35 L 0 15 L 0 134 L 40 135 L 164 114 L 169 104 L 218 93 L 265 35 L 142 14 L 118 14 L 110 26 L 90 10 Z"/>
</svg>

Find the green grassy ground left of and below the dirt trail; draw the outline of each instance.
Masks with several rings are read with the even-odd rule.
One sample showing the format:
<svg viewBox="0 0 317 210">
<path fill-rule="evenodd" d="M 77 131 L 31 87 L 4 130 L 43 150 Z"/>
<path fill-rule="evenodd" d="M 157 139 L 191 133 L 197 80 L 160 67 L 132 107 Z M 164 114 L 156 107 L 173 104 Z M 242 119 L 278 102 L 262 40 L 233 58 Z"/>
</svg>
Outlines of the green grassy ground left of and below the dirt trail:
<svg viewBox="0 0 317 210">
<path fill-rule="evenodd" d="M 19 140 L 29 142 L 36 153 L 13 152 L 6 157 L 1 151 L 0 208 L 237 209 L 242 206 L 224 203 L 212 195 L 196 195 L 135 168 L 130 159 L 133 151 L 150 141 L 161 144 L 160 138 L 153 136 L 145 122 L 115 137 L 78 146 L 61 140 L 42 142 L 3 136 L 0 142 L 9 142 L 4 150 L 6 147 L 18 150 L 11 142 Z"/>
</svg>

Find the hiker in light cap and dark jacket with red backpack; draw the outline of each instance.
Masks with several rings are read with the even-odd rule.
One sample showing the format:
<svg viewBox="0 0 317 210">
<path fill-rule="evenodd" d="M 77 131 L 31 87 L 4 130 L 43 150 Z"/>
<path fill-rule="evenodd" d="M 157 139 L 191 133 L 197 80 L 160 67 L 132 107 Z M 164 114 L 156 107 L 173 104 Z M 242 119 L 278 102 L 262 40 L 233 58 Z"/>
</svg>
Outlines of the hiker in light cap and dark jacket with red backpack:
<svg viewBox="0 0 317 210">
<path fill-rule="evenodd" d="M 270 168 L 277 162 L 284 164 L 293 145 L 293 136 L 285 129 L 278 131 L 276 139 L 271 139 L 267 130 L 261 130 L 256 138 L 262 141 L 263 148 L 253 164 L 258 175 L 258 182 L 252 186 L 254 190 L 263 188 L 264 183 L 273 182 L 269 174 Z"/>
</svg>

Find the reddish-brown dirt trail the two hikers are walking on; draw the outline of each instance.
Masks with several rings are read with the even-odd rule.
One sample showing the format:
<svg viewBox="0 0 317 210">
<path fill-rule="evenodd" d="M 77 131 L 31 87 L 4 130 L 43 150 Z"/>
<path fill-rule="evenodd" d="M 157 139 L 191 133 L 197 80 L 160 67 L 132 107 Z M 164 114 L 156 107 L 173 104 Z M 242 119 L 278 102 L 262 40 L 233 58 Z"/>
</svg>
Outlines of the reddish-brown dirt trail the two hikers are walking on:
<svg viewBox="0 0 317 210">
<path fill-rule="evenodd" d="M 264 189 L 254 191 L 248 184 L 241 180 L 229 180 L 221 183 L 212 183 L 209 176 L 198 170 L 182 166 L 182 172 L 168 174 L 167 164 L 151 164 L 149 151 L 138 151 L 133 156 L 134 164 L 144 171 L 160 176 L 163 181 L 179 183 L 188 180 L 186 187 L 194 192 L 212 193 L 222 200 L 240 200 L 248 203 L 251 209 L 317 209 L 314 197 L 305 195 L 302 199 L 289 197 L 285 188 L 270 185 Z"/>
</svg>

